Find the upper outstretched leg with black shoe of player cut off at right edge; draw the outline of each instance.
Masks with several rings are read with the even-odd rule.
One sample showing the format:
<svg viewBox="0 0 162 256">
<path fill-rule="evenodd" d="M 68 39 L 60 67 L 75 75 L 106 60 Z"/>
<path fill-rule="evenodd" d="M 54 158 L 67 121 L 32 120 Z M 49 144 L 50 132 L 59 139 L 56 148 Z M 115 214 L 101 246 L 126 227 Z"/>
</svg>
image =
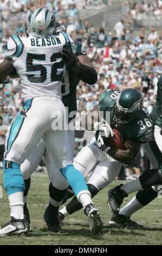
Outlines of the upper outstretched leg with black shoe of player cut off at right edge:
<svg viewBox="0 0 162 256">
<path fill-rule="evenodd" d="M 162 184 L 162 174 L 160 167 L 162 163 L 162 148 L 160 127 L 158 126 L 154 130 L 154 138 L 155 141 L 144 144 L 144 149 L 151 162 L 151 169 L 141 174 L 133 181 L 128 182 L 127 184 L 121 184 L 109 190 L 108 206 L 109 209 L 115 214 L 119 213 L 120 205 L 124 197 L 127 197 L 129 193 L 144 190 L 146 188 L 150 188 L 153 185 Z"/>
</svg>

